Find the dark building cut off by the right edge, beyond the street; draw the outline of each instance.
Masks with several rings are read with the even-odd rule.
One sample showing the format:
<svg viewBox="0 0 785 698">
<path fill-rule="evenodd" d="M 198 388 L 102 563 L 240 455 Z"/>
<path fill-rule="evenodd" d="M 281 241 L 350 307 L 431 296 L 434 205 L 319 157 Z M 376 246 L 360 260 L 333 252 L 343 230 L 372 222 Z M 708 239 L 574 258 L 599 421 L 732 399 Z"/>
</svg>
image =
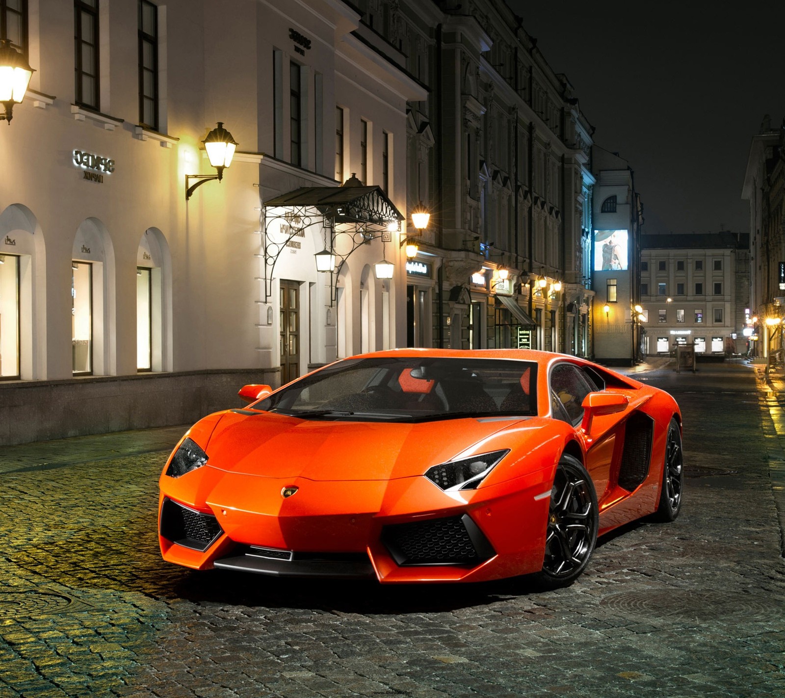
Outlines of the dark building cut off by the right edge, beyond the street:
<svg viewBox="0 0 785 698">
<path fill-rule="evenodd" d="M 785 119 L 772 128 L 766 115 L 752 138 L 741 198 L 750 203 L 750 305 L 761 319 L 758 355 L 767 356 L 769 346 L 781 348 L 782 335 L 770 332 L 777 326 L 765 319 L 785 315 Z"/>
</svg>

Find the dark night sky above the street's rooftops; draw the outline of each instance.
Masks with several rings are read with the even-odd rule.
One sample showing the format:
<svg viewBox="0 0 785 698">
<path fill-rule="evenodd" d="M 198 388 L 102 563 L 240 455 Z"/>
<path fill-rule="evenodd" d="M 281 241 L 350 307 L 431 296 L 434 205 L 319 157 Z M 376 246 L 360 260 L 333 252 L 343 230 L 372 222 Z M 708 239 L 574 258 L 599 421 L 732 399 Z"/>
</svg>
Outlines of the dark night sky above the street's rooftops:
<svg viewBox="0 0 785 698">
<path fill-rule="evenodd" d="M 785 117 L 785 3 L 507 2 L 629 161 L 644 233 L 749 232 L 750 142 Z"/>
</svg>

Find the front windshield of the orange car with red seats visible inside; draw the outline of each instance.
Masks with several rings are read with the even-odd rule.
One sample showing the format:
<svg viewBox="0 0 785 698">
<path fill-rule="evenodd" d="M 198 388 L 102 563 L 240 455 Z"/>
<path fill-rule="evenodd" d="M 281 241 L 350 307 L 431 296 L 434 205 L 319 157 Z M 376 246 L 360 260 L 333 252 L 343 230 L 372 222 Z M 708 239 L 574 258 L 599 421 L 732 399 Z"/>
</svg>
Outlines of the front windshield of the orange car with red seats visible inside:
<svg viewBox="0 0 785 698">
<path fill-rule="evenodd" d="M 383 356 L 339 361 L 253 405 L 311 419 L 421 422 L 536 414 L 532 361 Z"/>
</svg>

